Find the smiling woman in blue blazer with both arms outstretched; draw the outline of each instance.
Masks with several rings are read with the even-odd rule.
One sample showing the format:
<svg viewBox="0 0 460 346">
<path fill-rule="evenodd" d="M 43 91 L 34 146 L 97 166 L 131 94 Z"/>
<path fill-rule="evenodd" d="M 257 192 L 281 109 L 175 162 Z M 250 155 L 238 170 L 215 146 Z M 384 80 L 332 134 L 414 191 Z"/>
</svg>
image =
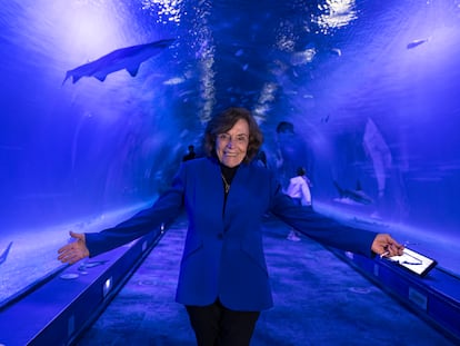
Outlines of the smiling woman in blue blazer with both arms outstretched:
<svg viewBox="0 0 460 346">
<path fill-rule="evenodd" d="M 206 129 L 207 157 L 183 162 L 151 208 L 100 233 L 70 233 L 77 241 L 59 249 L 59 259 L 72 264 L 108 251 L 184 207 L 189 226 L 176 299 L 187 308 L 198 345 L 240 346 L 249 345 L 260 312 L 272 306 L 261 230 L 268 211 L 328 246 L 401 255 L 402 246 L 389 235 L 344 227 L 296 205 L 273 172 L 253 162 L 262 140 L 247 109 L 221 112 Z"/>
</svg>

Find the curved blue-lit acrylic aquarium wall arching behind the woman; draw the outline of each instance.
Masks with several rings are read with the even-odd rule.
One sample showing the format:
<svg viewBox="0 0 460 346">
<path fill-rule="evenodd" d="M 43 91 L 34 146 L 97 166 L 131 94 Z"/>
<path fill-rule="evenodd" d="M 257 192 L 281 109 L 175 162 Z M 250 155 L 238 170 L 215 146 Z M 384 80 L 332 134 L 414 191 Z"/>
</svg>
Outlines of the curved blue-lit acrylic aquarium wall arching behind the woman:
<svg viewBox="0 0 460 346">
<path fill-rule="evenodd" d="M 61 267 L 68 230 L 154 200 L 228 106 L 319 210 L 460 275 L 456 0 L 12 0 L 0 51 L 0 301 Z"/>
</svg>

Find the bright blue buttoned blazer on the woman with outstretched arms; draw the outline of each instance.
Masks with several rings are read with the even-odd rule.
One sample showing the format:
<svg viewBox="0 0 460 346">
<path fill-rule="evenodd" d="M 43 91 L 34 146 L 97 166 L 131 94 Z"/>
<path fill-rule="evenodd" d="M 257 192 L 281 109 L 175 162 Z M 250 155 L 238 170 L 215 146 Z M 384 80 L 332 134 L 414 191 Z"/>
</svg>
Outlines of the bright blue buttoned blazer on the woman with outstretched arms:
<svg viewBox="0 0 460 346">
<path fill-rule="evenodd" d="M 374 233 L 342 226 L 297 206 L 267 168 L 242 164 L 226 206 L 222 184 L 217 159 L 183 162 L 171 188 L 151 208 L 113 228 L 86 234 L 90 256 L 146 235 L 186 207 L 189 226 L 177 301 L 204 306 L 219 298 L 230 309 L 258 312 L 273 304 L 262 248 L 261 224 L 268 211 L 324 245 L 371 254 Z"/>
</svg>

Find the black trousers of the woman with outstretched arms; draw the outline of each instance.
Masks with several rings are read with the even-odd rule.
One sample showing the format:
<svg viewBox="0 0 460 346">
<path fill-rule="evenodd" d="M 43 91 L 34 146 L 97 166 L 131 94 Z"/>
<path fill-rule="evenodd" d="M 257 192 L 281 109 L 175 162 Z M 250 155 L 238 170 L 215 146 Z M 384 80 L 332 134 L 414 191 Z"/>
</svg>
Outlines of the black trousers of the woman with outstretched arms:
<svg viewBox="0 0 460 346">
<path fill-rule="evenodd" d="M 186 306 L 198 346 L 249 346 L 260 312 L 234 312 L 219 300 Z"/>
</svg>

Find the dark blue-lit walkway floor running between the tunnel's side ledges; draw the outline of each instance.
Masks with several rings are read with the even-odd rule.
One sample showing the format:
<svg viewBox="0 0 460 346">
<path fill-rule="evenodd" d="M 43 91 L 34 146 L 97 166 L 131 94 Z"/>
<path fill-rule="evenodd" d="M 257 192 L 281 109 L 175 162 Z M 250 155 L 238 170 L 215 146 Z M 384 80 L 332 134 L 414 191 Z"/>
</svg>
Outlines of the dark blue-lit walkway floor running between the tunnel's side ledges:
<svg viewBox="0 0 460 346">
<path fill-rule="evenodd" d="M 264 225 L 274 307 L 261 314 L 251 346 L 454 345 L 321 245 L 287 240 L 276 219 Z M 174 301 L 186 227 L 183 218 L 171 226 L 77 345 L 196 345 Z"/>
</svg>

